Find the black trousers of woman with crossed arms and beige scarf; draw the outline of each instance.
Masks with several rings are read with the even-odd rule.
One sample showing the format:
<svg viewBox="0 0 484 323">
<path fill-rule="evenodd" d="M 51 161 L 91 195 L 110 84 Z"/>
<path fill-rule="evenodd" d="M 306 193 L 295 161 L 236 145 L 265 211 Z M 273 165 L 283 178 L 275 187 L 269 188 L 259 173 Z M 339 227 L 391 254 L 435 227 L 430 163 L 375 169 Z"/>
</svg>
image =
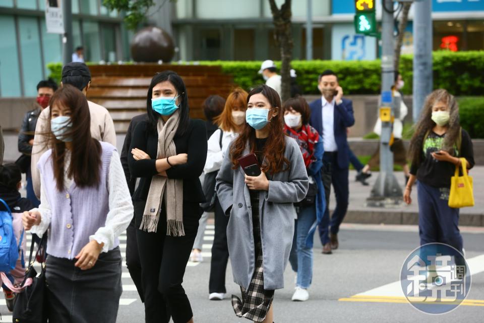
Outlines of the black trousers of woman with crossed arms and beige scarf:
<svg viewBox="0 0 484 323">
<path fill-rule="evenodd" d="M 139 228 L 145 202 L 135 202 L 135 224 Z M 137 229 L 138 251 L 141 260 L 142 282 L 145 293 L 145 322 L 186 323 L 192 318 L 190 301 L 181 286 L 190 252 L 197 236 L 202 209 L 198 203 L 184 205 L 185 236 L 166 235 L 166 213 L 161 207 L 156 232 Z"/>
</svg>

